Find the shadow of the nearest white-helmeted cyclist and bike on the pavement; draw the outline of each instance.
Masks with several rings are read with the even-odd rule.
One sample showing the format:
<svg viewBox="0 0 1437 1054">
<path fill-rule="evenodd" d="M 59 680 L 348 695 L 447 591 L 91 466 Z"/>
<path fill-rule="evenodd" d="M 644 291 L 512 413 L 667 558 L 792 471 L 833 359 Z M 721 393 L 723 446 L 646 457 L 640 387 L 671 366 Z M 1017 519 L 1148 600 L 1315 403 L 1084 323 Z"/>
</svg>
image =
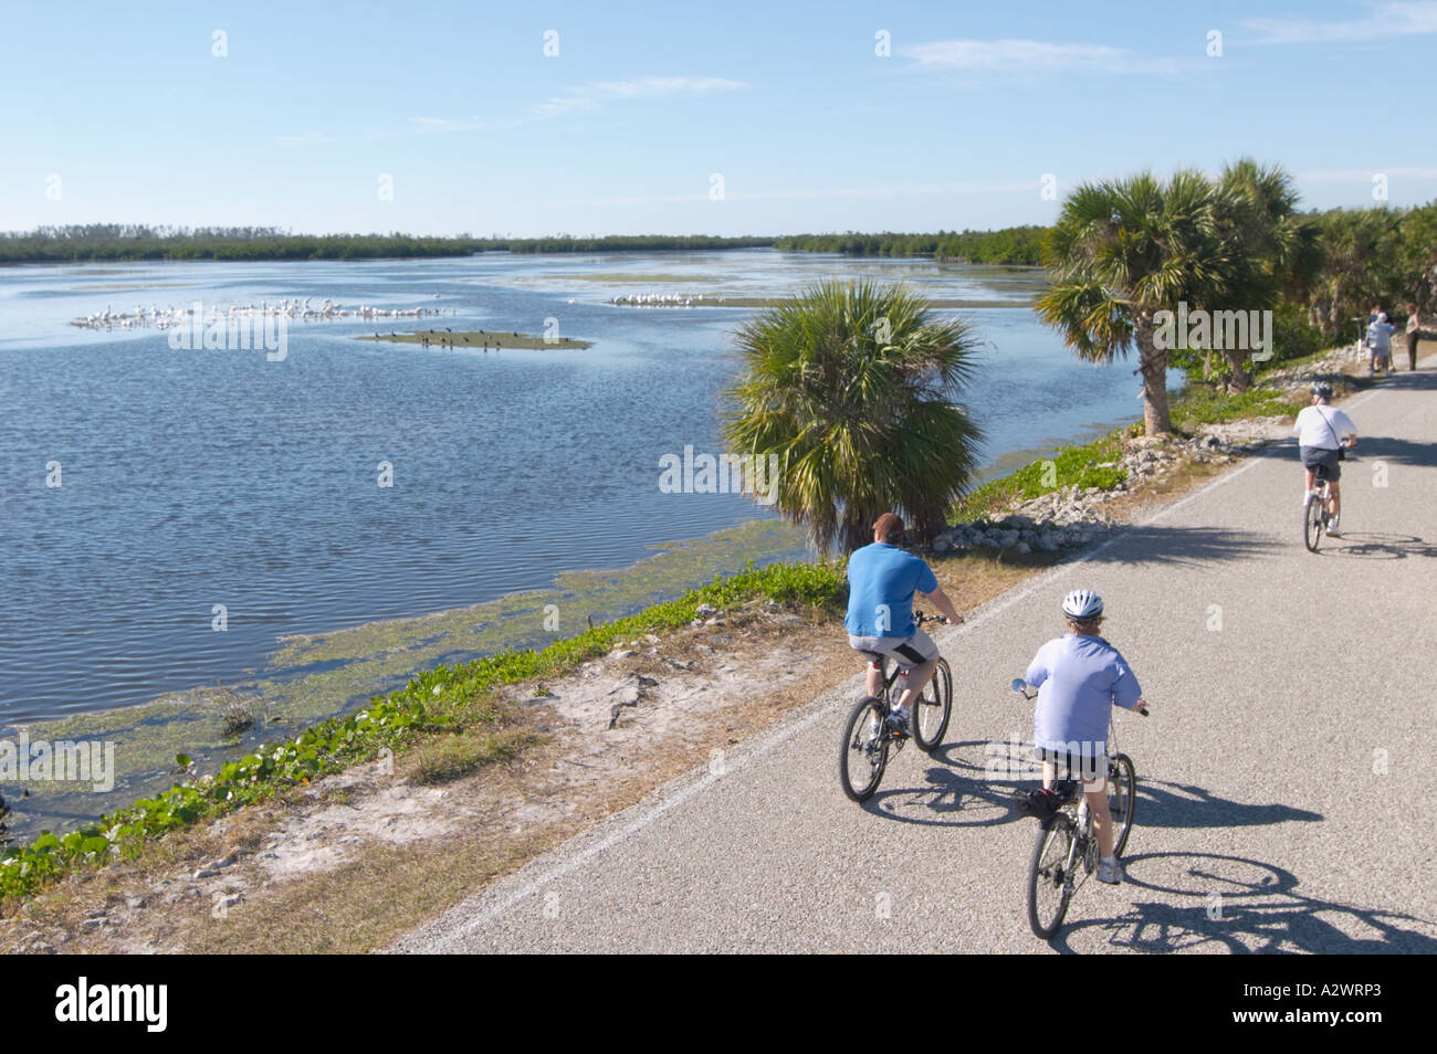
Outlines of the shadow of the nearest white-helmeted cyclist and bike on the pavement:
<svg viewBox="0 0 1437 1054">
<path fill-rule="evenodd" d="M 1188 903 L 1145 900 L 1117 918 L 1069 920 L 1049 941 L 1055 951 L 1079 955 L 1075 943 L 1104 935 L 1114 949 L 1155 953 L 1213 945 L 1237 955 L 1437 953 L 1437 922 L 1305 896 L 1296 892 L 1298 876 L 1272 863 L 1217 853 L 1147 853 L 1122 863 L 1127 882 L 1119 889 Z"/>
</svg>

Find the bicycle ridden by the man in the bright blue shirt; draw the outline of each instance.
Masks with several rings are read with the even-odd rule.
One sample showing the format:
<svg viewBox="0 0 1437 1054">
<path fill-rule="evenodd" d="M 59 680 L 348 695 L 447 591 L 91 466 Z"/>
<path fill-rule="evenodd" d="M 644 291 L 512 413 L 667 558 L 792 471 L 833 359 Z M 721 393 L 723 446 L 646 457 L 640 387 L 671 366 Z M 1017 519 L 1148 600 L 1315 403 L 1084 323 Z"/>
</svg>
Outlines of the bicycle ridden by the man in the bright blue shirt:
<svg viewBox="0 0 1437 1054">
<path fill-rule="evenodd" d="M 938 616 L 923 612 L 914 612 L 914 620 L 920 626 L 925 622 L 941 622 Z M 894 663 L 890 673 L 888 661 L 882 659 L 882 672 L 881 695 L 867 695 L 854 704 L 844 725 L 844 741 L 838 747 L 839 783 L 844 784 L 844 794 L 854 801 L 867 801 L 872 797 L 884 778 L 890 754 L 901 751 L 910 738 L 918 744 L 918 750 L 933 751 L 943 742 L 943 734 L 948 731 L 948 718 L 953 717 L 953 672 L 941 655 L 933 681 L 914 704 L 911 737 L 894 731 L 888 724 L 888 715 L 897 709 L 898 696 L 902 695 L 901 689 L 894 692 L 894 684 L 907 673 L 907 668 Z"/>
</svg>

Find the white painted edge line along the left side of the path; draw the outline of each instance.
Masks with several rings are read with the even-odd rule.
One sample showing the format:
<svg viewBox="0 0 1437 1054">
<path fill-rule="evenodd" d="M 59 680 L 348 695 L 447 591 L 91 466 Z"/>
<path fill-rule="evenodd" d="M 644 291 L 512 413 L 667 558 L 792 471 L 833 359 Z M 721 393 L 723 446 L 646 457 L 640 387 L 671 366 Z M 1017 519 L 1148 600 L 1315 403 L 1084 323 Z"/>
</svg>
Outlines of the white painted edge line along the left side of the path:
<svg viewBox="0 0 1437 1054">
<path fill-rule="evenodd" d="M 1362 402 L 1367 402 L 1374 395 L 1377 395 L 1378 391 L 1381 391 L 1381 389 L 1375 389 L 1374 388 L 1371 392 L 1367 392 L 1365 395 L 1362 395 L 1358 399 L 1355 399 L 1351 405 L 1357 406 L 1357 405 L 1359 405 Z M 993 602 L 992 605 L 987 605 L 987 606 L 981 607 L 980 612 L 979 612 L 979 615 L 976 615 L 971 619 L 964 620 L 964 623 L 961 626 L 954 628 L 954 630 L 947 635 L 947 639 L 951 640 L 951 639 L 954 639 L 957 636 L 961 636 L 963 633 L 967 633 L 971 629 L 976 629 L 977 626 L 980 626 L 984 622 L 987 622 L 989 619 L 992 619 L 994 615 L 1006 612 L 1009 607 L 1012 607 L 1013 605 L 1019 603 L 1020 600 L 1025 600 L 1029 596 L 1032 596 L 1033 593 L 1036 593 L 1038 590 L 1048 587 L 1056 579 L 1061 579 L 1062 576 L 1069 574 L 1071 572 L 1082 567 L 1085 563 L 1088 563 L 1089 560 L 1092 560 L 1094 557 L 1096 557 L 1099 553 L 1104 553 L 1108 549 L 1111 549 L 1112 546 L 1115 546 L 1119 541 L 1122 541 L 1132 531 L 1140 530 L 1142 527 L 1148 527 L 1150 524 L 1154 524 L 1158 520 L 1167 518 L 1168 516 L 1171 516 L 1177 510 L 1183 508 L 1184 505 L 1188 505 L 1188 504 L 1197 501 L 1198 498 L 1201 498 L 1203 495 L 1206 495 L 1209 491 L 1213 491 L 1213 490 L 1221 487 L 1223 484 L 1227 484 L 1227 482 L 1236 480 L 1239 475 L 1242 475 L 1243 472 L 1246 472 L 1247 470 L 1250 470 L 1250 468 L 1253 468 L 1253 467 L 1256 467 L 1259 464 L 1262 464 L 1262 458 L 1253 457 L 1246 464 L 1239 465 L 1237 468 L 1234 468 L 1234 470 L 1232 470 L 1229 472 L 1224 472 L 1219 478 L 1213 480 L 1210 484 L 1207 484 L 1207 485 L 1204 485 L 1204 487 L 1193 491 L 1187 497 L 1180 498 L 1178 501 L 1174 501 L 1170 505 L 1164 505 L 1157 513 L 1154 513 L 1152 516 L 1150 516 L 1147 520 L 1142 520 L 1141 523 L 1129 524 L 1128 527 L 1121 528 L 1111 538 L 1108 538 L 1106 541 L 1104 541 L 1096 549 L 1089 550 L 1085 556 L 1079 557 L 1078 560 L 1073 560 L 1072 563 L 1066 563 L 1065 561 L 1065 563 L 1053 567 L 1052 570 L 1049 570 L 1049 572 L 1038 576 L 1036 579 L 1033 579 L 1032 582 L 1029 582 L 1026 586 L 1022 586 L 1022 587 L 1019 587 L 1016 590 L 1012 590 L 1012 592 L 1003 594 L 1002 597 L 999 597 L 999 600 Z M 854 681 L 856 681 L 859 676 L 861 675 L 855 675 Z M 737 771 L 737 770 L 743 768 L 744 765 L 747 765 L 749 762 L 757 761 L 759 758 L 762 758 L 766 754 L 772 752 L 775 748 L 782 747 L 785 742 L 787 742 L 789 740 L 792 740 L 799 732 L 805 731 L 809 725 L 812 725 L 821 717 L 825 717 L 829 711 L 823 706 L 823 702 L 828 698 L 828 695 L 831 695 L 831 694 L 832 692 L 825 692 L 823 696 L 819 696 L 812 704 L 809 704 L 813 708 L 810 714 L 806 714 L 806 715 L 800 717 L 798 721 L 793 721 L 792 724 L 785 724 L 782 728 L 776 729 L 772 735 L 760 735 L 757 744 L 754 744 L 754 747 L 752 750 L 743 750 L 743 748 L 740 748 L 739 751 L 736 751 L 737 754 L 740 754 L 739 758 L 733 758 L 731 761 L 726 760 L 727 764 L 729 764 L 729 770 L 730 771 Z M 680 777 L 680 778 L 683 778 L 683 777 Z M 688 784 L 687 787 L 680 788 L 677 793 L 674 793 L 671 796 L 665 797 L 664 796 L 664 790 L 660 790 L 658 791 L 660 798 L 657 801 L 654 801 L 652 804 L 648 804 L 648 806 L 644 806 L 644 804 L 632 806 L 627 811 L 639 810 L 639 816 L 634 817 L 634 820 L 631 820 L 629 823 L 624 824 L 618 830 L 606 834 L 605 837 L 602 837 L 599 841 L 593 843 L 592 846 L 586 846 L 585 849 L 573 853 L 573 856 L 566 857 L 563 862 L 555 864 L 553 867 L 550 867 L 549 870 L 543 872 L 537 877 L 530 879 L 529 882 L 525 882 L 522 886 L 519 886 L 517 889 L 512 890 L 510 893 L 502 896 L 496 903 L 490 905 L 483 912 L 474 915 L 471 919 L 468 919 L 463 925 L 457 926 L 456 929 L 448 931 L 448 933 L 444 938 L 444 942 L 445 943 L 453 943 L 456 939 L 464 938 L 464 936 L 473 933 L 476 929 L 479 929 L 484 923 L 491 922 L 491 920 L 497 919 L 499 916 L 504 915 L 510 908 L 513 908 L 520 900 L 533 896 L 535 893 L 537 893 L 539 890 L 542 890 L 545 886 L 549 886 L 549 885 L 558 882 L 559 879 L 562 879 L 563 876 L 569 875 L 570 872 L 579 869 L 581 866 L 583 866 L 585 863 L 588 863 L 593 857 L 599 856 L 601 853 L 612 849 L 614 846 L 616 846 L 621 841 L 632 837 L 634 834 L 638 834 L 645 827 L 648 827 L 651 823 L 654 823 L 658 817 L 661 817 L 664 813 L 670 811 L 675 806 L 684 804 L 691 797 L 694 797 L 696 794 L 700 794 L 701 791 L 707 790 L 711 784 L 714 784 L 714 783 L 717 783 L 718 780 L 723 780 L 723 778 L 724 778 L 723 775 L 717 775 L 714 773 L 710 773 L 710 774 L 704 775 L 703 778 L 700 778 L 700 780 Z M 670 784 L 670 787 L 673 787 L 673 784 Z M 559 852 L 562 852 L 562 850 L 559 850 Z M 484 893 L 480 893 L 480 896 L 484 896 Z M 461 909 L 463 908 L 454 909 L 454 910 L 461 910 Z M 428 928 L 425 928 L 425 929 L 428 929 Z"/>
</svg>

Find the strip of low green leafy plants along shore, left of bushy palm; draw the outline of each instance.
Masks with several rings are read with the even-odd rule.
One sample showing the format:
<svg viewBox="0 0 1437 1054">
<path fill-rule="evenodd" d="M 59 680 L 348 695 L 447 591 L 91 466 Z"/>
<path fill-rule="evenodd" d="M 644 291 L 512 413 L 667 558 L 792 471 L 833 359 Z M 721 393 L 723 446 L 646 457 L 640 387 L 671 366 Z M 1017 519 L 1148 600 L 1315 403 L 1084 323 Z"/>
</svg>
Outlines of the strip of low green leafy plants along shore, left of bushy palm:
<svg viewBox="0 0 1437 1054">
<path fill-rule="evenodd" d="M 369 706 L 331 718 L 282 742 L 259 747 L 217 773 L 200 775 L 194 761 L 175 761 L 185 778 L 154 798 L 141 798 L 96 823 L 59 836 L 43 833 L 29 846 L 0 856 L 0 903 L 23 897 L 75 867 L 132 859 L 167 831 L 213 819 L 244 804 L 269 798 L 348 765 L 410 750 L 430 735 L 457 737 L 433 755 L 420 757 L 427 778 L 456 778 L 486 760 L 509 757 L 523 740 L 510 729 L 509 715 L 493 691 L 535 676 L 563 672 L 609 652 L 618 642 L 688 625 L 700 605 L 734 607 L 753 599 L 832 609 L 844 594 L 841 564 L 753 563 L 729 579 L 691 590 L 677 600 L 595 626 L 543 649 L 504 650 L 476 662 L 437 666 Z M 433 742 L 433 741 L 431 741 Z"/>
</svg>

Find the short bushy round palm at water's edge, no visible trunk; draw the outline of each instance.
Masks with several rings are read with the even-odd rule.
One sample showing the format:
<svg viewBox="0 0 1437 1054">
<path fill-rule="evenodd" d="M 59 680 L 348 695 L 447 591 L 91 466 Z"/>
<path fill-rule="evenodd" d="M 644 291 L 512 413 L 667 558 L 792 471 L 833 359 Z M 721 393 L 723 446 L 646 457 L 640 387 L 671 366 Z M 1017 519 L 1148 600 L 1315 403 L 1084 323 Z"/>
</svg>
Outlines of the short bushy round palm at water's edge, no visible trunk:
<svg viewBox="0 0 1437 1054">
<path fill-rule="evenodd" d="M 980 437 L 951 402 L 973 370 L 967 322 L 902 287 L 825 281 L 736 335 L 734 454 L 776 455 L 776 504 L 826 559 L 872 541 L 895 510 L 918 540 L 967 488 Z"/>
</svg>

